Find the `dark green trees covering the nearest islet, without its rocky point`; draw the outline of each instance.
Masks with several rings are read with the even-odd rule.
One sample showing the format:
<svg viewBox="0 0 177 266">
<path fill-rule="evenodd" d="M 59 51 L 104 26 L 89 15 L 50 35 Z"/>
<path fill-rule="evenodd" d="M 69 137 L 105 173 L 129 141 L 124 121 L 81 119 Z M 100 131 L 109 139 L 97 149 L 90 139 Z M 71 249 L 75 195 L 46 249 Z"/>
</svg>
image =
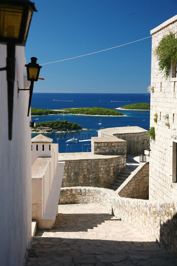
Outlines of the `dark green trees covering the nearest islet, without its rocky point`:
<svg viewBox="0 0 177 266">
<path fill-rule="evenodd" d="M 70 123 L 67 120 L 65 121 L 47 121 L 47 122 L 41 122 L 41 123 L 37 123 L 36 126 L 34 127 L 34 130 L 41 130 L 49 127 L 49 129 L 47 129 L 48 132 L 51 132 L 53 130 L 55 131 L 66 131 L 66 130 L 80 130 L 82 129 L 81 125 L 78 125 L 76 123 Z"/>
</svg>

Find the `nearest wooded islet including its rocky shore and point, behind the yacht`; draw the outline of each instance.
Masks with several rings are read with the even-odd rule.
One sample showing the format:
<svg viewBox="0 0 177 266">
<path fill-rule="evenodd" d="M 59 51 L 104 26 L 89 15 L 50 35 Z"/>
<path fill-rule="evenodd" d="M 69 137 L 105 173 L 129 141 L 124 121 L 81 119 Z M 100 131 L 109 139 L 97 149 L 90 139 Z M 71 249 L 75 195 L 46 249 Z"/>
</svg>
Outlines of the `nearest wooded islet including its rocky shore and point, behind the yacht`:
<svg viewBox="0 0 177 266">
<path fill-rule="evenodd" d="M 37 123 L 32 129 L 32 133 L 57 133 L 57 132 L 77 132 L 83 129 L 81 125 L 65 121 L 47 121 Z"/>
</svg>

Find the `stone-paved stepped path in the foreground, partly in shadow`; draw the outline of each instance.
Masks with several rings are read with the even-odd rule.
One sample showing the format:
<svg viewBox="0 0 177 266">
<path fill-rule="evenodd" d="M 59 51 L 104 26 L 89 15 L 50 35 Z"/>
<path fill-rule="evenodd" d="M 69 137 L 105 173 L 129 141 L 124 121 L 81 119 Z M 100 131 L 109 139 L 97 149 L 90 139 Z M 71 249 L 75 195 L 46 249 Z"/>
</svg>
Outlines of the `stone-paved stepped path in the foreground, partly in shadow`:
<svg viewBox="0 0 177 266">
<path fill-rule="evenodd" d="M 177 265 L 177 256 L 104 206 L 59 205 L 52 230 L 38 230 L 26 266 Z"/>
</svg>

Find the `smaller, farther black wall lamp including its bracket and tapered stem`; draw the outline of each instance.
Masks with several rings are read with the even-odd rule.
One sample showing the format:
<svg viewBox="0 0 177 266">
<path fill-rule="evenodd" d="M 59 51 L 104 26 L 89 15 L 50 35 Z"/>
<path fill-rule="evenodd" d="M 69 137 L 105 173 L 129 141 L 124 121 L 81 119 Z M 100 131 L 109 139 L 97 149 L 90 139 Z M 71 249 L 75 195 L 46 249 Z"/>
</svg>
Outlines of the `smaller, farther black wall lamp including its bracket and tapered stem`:
<svg viewBox="0 0 177 266">
<path fill-rule="evenodd" d="M 30 113 L 30 105 L 31 105 L 31 98 L 32 98 L 34 82 L 38 80 L 39 72 L 40 72 L 40 69 L 42 68 L 36 62 L 37 62 L 37 58 L 31 57 L 31 63 L 28 63 L 27 65 L 25 65 L 25 67 L 27 68 L 27 80 L 31 81 L 30 88 L 29 89 L 18 89 L 18 92 L 19 92 L 19 90 L 29 90 L 30 91 L 30 97 L 29 97 L 29 103 L 28 103 L 28 116 Z M 42 79 L 42 78 L 40 78 L 40 79 Z"/>
</svg>

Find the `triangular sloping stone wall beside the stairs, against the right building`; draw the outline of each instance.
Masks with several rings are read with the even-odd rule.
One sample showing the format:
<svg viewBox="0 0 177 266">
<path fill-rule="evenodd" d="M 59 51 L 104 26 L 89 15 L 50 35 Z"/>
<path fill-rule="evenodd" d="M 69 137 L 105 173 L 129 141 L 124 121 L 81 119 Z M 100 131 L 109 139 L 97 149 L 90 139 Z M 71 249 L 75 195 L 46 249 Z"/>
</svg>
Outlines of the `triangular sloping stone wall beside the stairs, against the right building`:
<svg viewBox="0 0 177 266">
<path fill-rule="evenodd" d="M 116 192 L 120 197 L 148 200 L 149 162 L 141 163 Z"/>
</svg>

